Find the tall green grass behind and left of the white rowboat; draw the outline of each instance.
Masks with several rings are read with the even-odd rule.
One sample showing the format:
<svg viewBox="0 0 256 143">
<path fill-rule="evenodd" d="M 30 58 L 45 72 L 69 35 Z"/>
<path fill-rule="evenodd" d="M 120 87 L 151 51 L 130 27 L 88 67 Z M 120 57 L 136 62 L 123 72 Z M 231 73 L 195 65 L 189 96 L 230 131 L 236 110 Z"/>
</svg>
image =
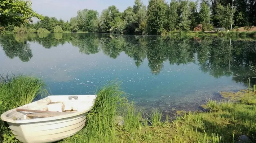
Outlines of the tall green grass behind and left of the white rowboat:
<svg viewBox="0 0 256 143">
<path fill-rule="evenodd" d="M 47 95 L 43 80 L 24 75 L 0 75 L 0 114 L 12 108 L 31 103 L 38 96 Z M 0 141 L 9 134 L 8 126 L 0 120 Z M 7 136 L 5 136 L 7 137 Z"/>
</svg>

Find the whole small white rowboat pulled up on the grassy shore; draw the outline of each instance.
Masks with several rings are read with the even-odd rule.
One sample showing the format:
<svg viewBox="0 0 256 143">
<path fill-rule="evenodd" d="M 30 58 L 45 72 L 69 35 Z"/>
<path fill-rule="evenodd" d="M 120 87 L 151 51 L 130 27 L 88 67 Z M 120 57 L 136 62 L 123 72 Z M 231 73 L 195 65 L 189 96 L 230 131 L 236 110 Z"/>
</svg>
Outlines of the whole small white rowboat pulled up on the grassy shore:
<svg viewBox="0 0 256 143">
<path fill-rule="evenodd" d="M 85 126 L 86 114 L 96 97 L 48 96 L 4 112 L 1 119 L 23 143 L 55 142 L 73 136 Z"/>
</svg>

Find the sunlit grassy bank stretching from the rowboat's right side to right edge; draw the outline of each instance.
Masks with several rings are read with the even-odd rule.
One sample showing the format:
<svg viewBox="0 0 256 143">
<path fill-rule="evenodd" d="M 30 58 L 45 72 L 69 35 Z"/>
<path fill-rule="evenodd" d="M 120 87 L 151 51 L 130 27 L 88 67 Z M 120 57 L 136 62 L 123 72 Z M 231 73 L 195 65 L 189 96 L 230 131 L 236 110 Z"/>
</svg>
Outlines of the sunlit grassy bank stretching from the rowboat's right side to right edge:
<svg viewBox="0 0 256 143">
<path fill-rule="evenodd" d="M 235 142 L 241 135 L 256 141 L 256 107 L 252 104 L 256 98 L 252 92 L 236 102 L 210 100 L 204 106 L 208 112 L 188 112 L 177 116 L 174 121 L 170 121 L 168 116 L 165 121 L 161 121 L 162 114 L 157 109 L 146 115 L 148 119 L 142 119 L 142 112 L 136 111 L 131 104 L 117 100 L 115 95 L 111 97 L 111 94 L 107 93 L 118 93 L 118 96 L 121 94 L 118 88 L 113 86 L 101 90 L 94 110 L 89 113 L 86 127 L 77 135 L 62 142 L 220 143 Z M 109 106 L 105 106 L 104 109 L 97 104 Z M 120 109 L 125 109 L 126 112 L 120 112 Z M 123 126 L 116 125 L 115 115 L 123 116 Z"/>
</svg>

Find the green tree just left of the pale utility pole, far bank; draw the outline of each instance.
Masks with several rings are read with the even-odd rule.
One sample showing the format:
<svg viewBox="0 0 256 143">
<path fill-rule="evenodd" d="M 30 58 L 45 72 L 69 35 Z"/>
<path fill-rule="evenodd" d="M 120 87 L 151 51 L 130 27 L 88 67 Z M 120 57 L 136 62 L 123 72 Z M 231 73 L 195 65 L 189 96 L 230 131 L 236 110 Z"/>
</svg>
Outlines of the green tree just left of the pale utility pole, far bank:
<svg viewBox="0 0 256 143">
<path fill-rule="evenodd" d="M 232 13 L 234 13 L 234 10 L 232 10 L 230 5 L 224 7 L 219 3 L 217 5 L 215 16 L 218 20 L 219 26 L 229 29 L 230 25 L 234 24 L 234 20 L 232 20 Z"/>
</svg>

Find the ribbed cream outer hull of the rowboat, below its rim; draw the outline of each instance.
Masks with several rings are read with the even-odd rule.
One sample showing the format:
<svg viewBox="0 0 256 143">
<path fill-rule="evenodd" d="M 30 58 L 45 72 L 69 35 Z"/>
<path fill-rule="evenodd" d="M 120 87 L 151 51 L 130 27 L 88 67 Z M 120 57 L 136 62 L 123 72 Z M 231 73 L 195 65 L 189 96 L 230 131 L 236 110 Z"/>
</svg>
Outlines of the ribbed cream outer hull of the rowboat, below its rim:
<svg viewBox="0 0 256 143">
<path fill-rule="evenodd" d="M 86 122 L 86 113 L 65 119 L 35 123 L 15 124 L 7 122 L 15 138 L 23 143 L 46 143 L 71 137 Z"/>
</svg>

